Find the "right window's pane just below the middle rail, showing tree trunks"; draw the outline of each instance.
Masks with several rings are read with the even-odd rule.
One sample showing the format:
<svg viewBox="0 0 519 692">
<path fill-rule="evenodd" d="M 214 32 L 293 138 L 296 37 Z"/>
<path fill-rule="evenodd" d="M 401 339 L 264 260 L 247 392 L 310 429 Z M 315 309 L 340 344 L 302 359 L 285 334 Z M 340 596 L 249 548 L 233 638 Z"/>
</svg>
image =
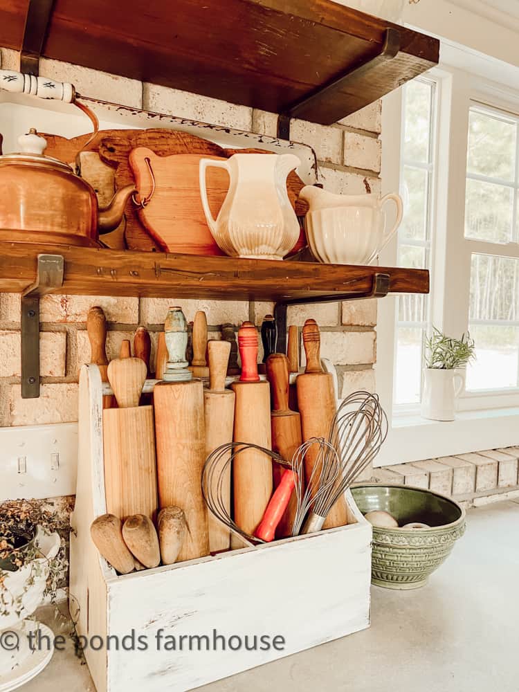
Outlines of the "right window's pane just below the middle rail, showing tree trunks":
<svg viewBox="0 0 519 692">
<path fill-rule="evenodd" d="M 519 321 L 519 260 L 472 255 L 469 319 Z"/>
</svg>

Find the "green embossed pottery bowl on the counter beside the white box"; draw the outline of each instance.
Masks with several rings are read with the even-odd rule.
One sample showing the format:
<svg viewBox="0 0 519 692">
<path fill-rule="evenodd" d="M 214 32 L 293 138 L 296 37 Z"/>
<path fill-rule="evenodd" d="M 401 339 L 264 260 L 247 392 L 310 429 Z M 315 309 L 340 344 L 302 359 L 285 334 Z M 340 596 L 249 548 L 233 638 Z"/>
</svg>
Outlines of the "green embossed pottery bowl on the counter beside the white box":
<svg viewBox="0 0 519 692">
<path fill-rule="evenodd" d="M 386 589 L 417 589 L 446 559 L 465 533 L 465 511 L 454 500 L 408 485 L 359 484 L 350 488 L 358 509 L 389 512 L 399 526 L 428 524 L 424 529 L 373 527 L 372 583 Z"/>
</svg>

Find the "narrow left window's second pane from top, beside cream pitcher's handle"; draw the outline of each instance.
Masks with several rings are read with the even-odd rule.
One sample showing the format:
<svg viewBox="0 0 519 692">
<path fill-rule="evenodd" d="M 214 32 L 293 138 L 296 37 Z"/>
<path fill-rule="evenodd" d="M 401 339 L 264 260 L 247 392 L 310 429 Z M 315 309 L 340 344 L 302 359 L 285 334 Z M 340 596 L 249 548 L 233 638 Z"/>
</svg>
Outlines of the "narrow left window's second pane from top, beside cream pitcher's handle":
<svg viewBox="0 0 519 692">
<path fill-rule="evenodd" d="M 428 220 L 428 172 L 423 168 L 404 166 L 401 196 L 403 219 L 399 228 L 400 237 L 425 240 Z"/>
</svg>

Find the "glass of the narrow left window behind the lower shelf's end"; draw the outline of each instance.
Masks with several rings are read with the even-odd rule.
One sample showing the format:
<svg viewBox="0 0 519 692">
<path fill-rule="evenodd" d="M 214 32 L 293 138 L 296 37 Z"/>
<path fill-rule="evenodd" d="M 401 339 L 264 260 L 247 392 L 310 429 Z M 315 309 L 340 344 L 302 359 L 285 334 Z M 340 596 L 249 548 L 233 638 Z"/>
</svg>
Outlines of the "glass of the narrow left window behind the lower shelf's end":
<svg viewBox="0 0 519 692">
<path fill-rule="evenodd" d="M 413 80 L 403 88 L 401 184 L 404 215 L 399 228 L 397 264 L 430 268 L 435 172 L 436 88 Z M 421 399 L 421 361 L 429 327 L 427 295 L 401 295 L 397 304 L 394 403 Z"/>
</svg>

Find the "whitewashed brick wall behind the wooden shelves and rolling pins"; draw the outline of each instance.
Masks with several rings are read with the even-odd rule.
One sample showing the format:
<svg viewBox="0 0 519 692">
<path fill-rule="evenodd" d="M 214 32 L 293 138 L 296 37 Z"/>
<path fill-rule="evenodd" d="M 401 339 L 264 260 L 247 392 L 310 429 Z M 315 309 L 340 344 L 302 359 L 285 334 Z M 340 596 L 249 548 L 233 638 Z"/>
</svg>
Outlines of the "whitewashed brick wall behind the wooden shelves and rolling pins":
<svg viewBox="0 0 519 692">
<path fill-rule="evenodd" d="M 18 68 L 14 51 L 1 49 L 2 66 Z M 75 84 L 78 92 L 92 98 L 193 118 L 211 124 L 276 135 L 277 116 L 224 101 L 205 98 L 156 84 L 142 84 L 56 60 L 41 60 L 40 74 Z M 0 124 L 1 129 L 1 124 Z M 334 192 L 365 194 L 365 179 L 372 192 L 380 192 L 379 102 L 323 127 L 294 120 L 291 139 L 310 145 L 318 157 L 318 174 L 325 188 Z M 261 324 L 272 304 L 167 299 L 114 298 L 111 296 L 48 296 L 41 306 L 42 396 L 21 399 L 19 372 L 18 295 L 0 295 L 0 427 L 75 421 L 78 402 L 78 370 L 89 358 L 86 313 L 100 305 L 107 316 L 109 357 L 118 354 L 123 338 L 132 338 L 138 325 L 161 329 L 167 307 L 180 304 L 188 320 L 197 309 L 207 313 L 210 336 L 218 336 L 224 322 L 239 327 L 249 318 Z M 376 301 L 322 304 L 289 309 L 289 324 L 302 327 L 313 317 L 322 329 L 322 355 L 336 364 L 340 392 L 358 388 L 374 390 Z M 153 354 L 152 354 L 153 356 Z"/>
</svg>

